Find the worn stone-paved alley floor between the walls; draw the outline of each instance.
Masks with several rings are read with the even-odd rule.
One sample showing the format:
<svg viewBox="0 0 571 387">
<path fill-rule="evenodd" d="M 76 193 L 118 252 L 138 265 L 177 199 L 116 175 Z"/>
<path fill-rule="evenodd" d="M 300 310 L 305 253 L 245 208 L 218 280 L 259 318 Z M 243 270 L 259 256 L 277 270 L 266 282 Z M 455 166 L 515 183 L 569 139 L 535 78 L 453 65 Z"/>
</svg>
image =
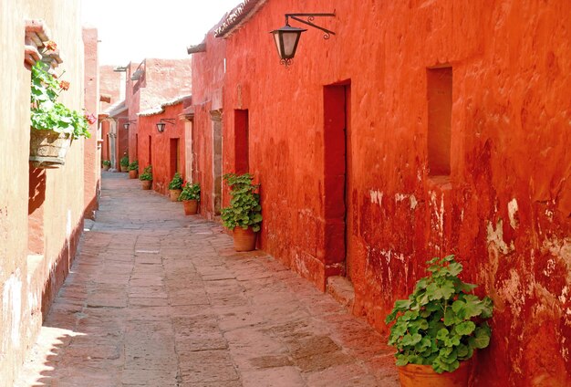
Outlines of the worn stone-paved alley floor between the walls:
<svg viewBox="0 0 571 387">
<path fill-rule="evenodd" d="M 104 173 L 97 222 L 16 386 L 397 386 L 362 319 L 220 225 Z"/>
</svg>

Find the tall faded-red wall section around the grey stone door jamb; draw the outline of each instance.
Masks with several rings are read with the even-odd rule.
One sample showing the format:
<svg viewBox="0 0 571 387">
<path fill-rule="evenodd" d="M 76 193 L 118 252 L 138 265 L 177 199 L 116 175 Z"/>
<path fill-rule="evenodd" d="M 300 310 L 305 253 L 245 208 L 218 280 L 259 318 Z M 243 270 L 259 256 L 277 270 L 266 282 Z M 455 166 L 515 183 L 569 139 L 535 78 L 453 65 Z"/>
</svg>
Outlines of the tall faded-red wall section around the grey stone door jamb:
<svg viewBox="0 0 571 387">
<path fill-rule="evenodd" d="M 206 51 L 192 54 L 192 147 L 196 153 L 194 178 L 201 183 L 201 214 L 213 219 L 213 119 L 211 111 L 223 110 L 225 41 L 214 37 L 213 30 L 206 35 Z M 229 113 L 222 111 L 222 120 Z M 224 137 L 223 141 L 228 141 Z M 223 152 L 226 151 L 223 145 Z M 223 158 L 223 171 L 228 170 Z"/>
</svg>

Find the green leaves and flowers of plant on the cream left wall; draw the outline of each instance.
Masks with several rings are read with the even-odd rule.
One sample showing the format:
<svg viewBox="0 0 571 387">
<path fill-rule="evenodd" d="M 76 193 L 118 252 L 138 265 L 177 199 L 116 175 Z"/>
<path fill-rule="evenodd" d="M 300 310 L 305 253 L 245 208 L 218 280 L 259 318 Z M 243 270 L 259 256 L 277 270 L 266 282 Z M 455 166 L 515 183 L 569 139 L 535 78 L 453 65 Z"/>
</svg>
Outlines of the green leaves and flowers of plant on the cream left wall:
<svg viewBox="0 0 571 387">
<path fill-rule="evenodd" d="M 53 43 L 53 42 L 52 42 Z M 53 44 L 55 47 L 55 44 Z M 69 88 L 69 82 L 58 81 L 48 72 L 49 65 L 37 61 L 32 67 L 30 121 L 38 131 L 67 133 L 72 139 L 90 137 L 89 124 L 97 122 L 93 114 L 67 108 L 57 97 Z"/>
</svg>

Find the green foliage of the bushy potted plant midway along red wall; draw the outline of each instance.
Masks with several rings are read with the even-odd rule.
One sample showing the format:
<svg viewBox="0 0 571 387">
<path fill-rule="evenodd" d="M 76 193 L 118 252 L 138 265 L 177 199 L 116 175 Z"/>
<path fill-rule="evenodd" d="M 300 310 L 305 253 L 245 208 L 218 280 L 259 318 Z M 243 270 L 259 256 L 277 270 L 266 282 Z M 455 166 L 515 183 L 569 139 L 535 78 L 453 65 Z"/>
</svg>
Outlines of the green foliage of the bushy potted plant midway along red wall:
<svg viewBox="0 0 571 387">
<path fill-rule="evenodd" d="M 224 227 L 234 230 L 235 227 L 245 229 L 252 227 L 254 232 L 260 231 L 262 223 L 262 206 L 260 205 L 260 194 L 255 191 L 260 184 L 253 184 L 254 177 L 250 173 L 237 175 L 226 173 L 223 175 L 224 181 L 230 186 L 230 206 L 222 210 L 222 221 Z"/>
</svg>

